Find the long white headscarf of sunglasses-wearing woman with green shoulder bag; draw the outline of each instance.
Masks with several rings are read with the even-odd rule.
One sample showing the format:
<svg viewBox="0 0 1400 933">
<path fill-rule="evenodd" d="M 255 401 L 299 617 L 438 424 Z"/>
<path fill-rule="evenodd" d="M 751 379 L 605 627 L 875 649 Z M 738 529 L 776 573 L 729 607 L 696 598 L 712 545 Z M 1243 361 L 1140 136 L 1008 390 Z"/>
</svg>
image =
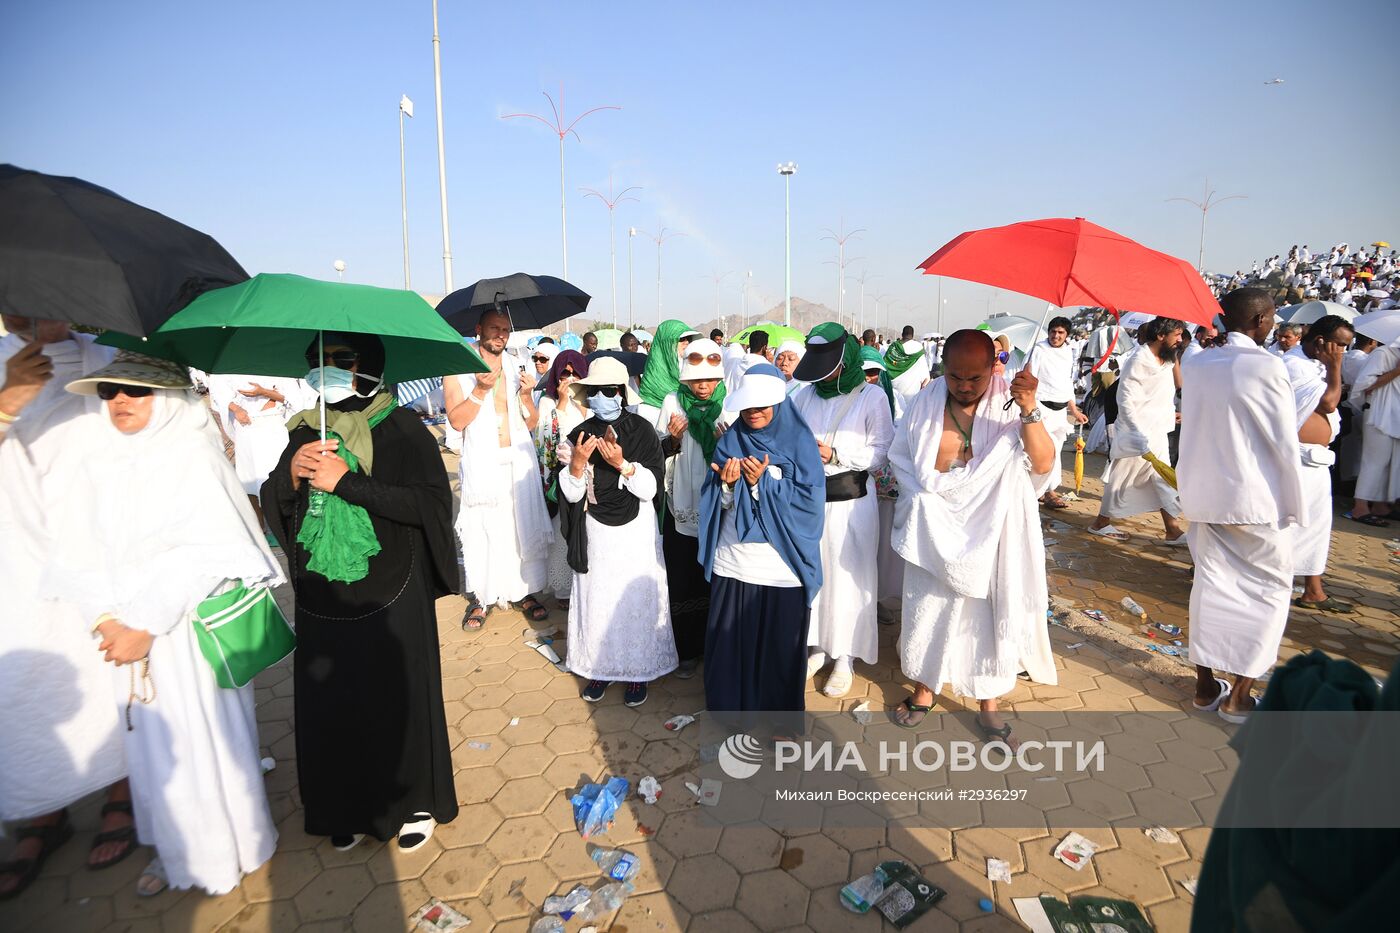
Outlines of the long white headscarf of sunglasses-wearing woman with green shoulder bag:
<svg viewBox="0 0 1400 933">
<path fill-rule="evenodd" d="M 119 431 L 105 403 L 98 430 L 101 452 L 57 520 L 43 598 L 164 635 L 228 580 L 283 581 L 203 402 L 155 389 L 140 431 Z"/>
</svg>

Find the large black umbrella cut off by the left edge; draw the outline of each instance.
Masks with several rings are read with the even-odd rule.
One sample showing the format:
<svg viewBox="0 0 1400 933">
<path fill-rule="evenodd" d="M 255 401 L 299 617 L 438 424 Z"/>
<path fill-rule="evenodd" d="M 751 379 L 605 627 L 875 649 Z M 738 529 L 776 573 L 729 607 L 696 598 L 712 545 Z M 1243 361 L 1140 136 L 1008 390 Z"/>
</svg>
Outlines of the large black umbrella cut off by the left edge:
<svg viewBox="0 0 1400 933">
<path fill-rule="evenodd" d="M 213 237 L 80 178 L 0 165 L 0 311 L 147 336 L 248 280 Z"/>
</svg>

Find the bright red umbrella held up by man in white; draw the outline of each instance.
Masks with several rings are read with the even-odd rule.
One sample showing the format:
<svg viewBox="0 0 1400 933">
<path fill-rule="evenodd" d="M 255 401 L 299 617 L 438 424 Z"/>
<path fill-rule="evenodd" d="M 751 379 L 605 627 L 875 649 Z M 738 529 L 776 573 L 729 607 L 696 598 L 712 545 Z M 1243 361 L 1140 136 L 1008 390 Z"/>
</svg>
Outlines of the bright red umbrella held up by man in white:
<svg viewBox="0 0 1400 933">
<path fill-rule="evenodd" d="M 918 268 L 930 276 L 1021 291 L 1058 308 L 1099 305 L 1114 317 L 1119 311 L 1144 311 L 1211 324 L 1221 311 L 1189 262 L 1084 217 L 970 230 Z"/>
</svg>

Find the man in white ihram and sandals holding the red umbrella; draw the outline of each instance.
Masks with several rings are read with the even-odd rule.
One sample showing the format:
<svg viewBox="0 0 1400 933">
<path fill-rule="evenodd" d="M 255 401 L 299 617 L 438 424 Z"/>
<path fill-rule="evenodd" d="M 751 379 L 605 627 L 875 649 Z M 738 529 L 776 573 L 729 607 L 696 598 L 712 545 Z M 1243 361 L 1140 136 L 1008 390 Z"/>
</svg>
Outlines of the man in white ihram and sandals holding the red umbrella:
<svg viewBox="0 0 1400 933">
<path fill-rule="evenodd" d="M 988 740 L 1008 741 L 997 698 L 1015 688 L 1016 674 L 1058 681 L 1035 497 L 1058 462 L 1036 378 L 1022 370 L 1008 385 L 994 361 L 984 332 L 948 338 L 944 375 L 914 398 L 889 450 L 899 481 L 893 545 L 907 562 L 899 658 L 914 681 L 895 721 L 917 726 L 948 684 L 977 700 Z"/>
</svg>

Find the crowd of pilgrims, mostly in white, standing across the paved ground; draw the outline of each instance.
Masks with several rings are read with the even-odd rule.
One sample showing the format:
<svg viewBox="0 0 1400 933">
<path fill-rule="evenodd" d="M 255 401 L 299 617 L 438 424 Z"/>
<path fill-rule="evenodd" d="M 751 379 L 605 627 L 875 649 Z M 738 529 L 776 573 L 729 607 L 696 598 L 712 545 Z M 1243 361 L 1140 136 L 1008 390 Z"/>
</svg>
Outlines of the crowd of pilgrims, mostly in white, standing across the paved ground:
<svg viewBox="0 0 1400 933">
<path fill-rule="evenodd" d="M 1166 319 L 1124 336 L 1091 531 L 1121 538 L 1112 520 L 1161 511 L 1166 542 L 1190 541 L 1197 707 L 1240 721 L 1294 574 L 1331 602 L 1327 469 L 1303 474 L 1334 437 L 1352 335 L 1324 319 L 1280 359 L 1259 346 L 1267 293 L 1222 305 L 1218 339 L 1203 329 L 1197 345 Z M 0 818 L 18 845 L 0 898 L 73 835 L 67 807 L 99 792 L 88 866 L 153 846 L 141 894 L 225 892 L 272 856 L 252 685 L 220 688 L 190 626 L 239 581 L 291 584 L 305 831 L 337 849 L 368 835 L 412 852 L 456 815 L 433 674 L 434 602 L 454 593 L 469 630 L 504 607 L 533 622 L 547 600 L 567 608 L 564 660 L 585 700 L 619 685 L 640 706 L 652 681 L 703 674 L 707 710 L 770 737 L 802 730 L 809 682 L 843 696 L 853 665 L 878 661 L 878 626 L 899 619 L 914 691 L 895 721 L 917 726 L 946 688 L 977 700 L 988 741 L 1016 741 L 997 699 L 1018 675 L 1057 677 L 1037 503 L 1064 504 L 1060 451 L 1096 415 L 1084 389 L 1102 388 L 1071 321 L 1050 321 L 1021 366 L 995 332 L 928 342 L 904 328 L 881 347 L 830 322 L 739 346 L 664 321 L 644 356 L 547 338 L 518 354 L 508 311 L 477 325 L 489 371 L 444 378 L 458 503 L 372 335 L 308 347 L 322 424 L 308 381 L 192 378 L 6 317 Z M 1187 346 L 1201 353 L 1183 364 Z M 1179 495 L 1144 454 L 1179 459 Z"/>
</svg>

